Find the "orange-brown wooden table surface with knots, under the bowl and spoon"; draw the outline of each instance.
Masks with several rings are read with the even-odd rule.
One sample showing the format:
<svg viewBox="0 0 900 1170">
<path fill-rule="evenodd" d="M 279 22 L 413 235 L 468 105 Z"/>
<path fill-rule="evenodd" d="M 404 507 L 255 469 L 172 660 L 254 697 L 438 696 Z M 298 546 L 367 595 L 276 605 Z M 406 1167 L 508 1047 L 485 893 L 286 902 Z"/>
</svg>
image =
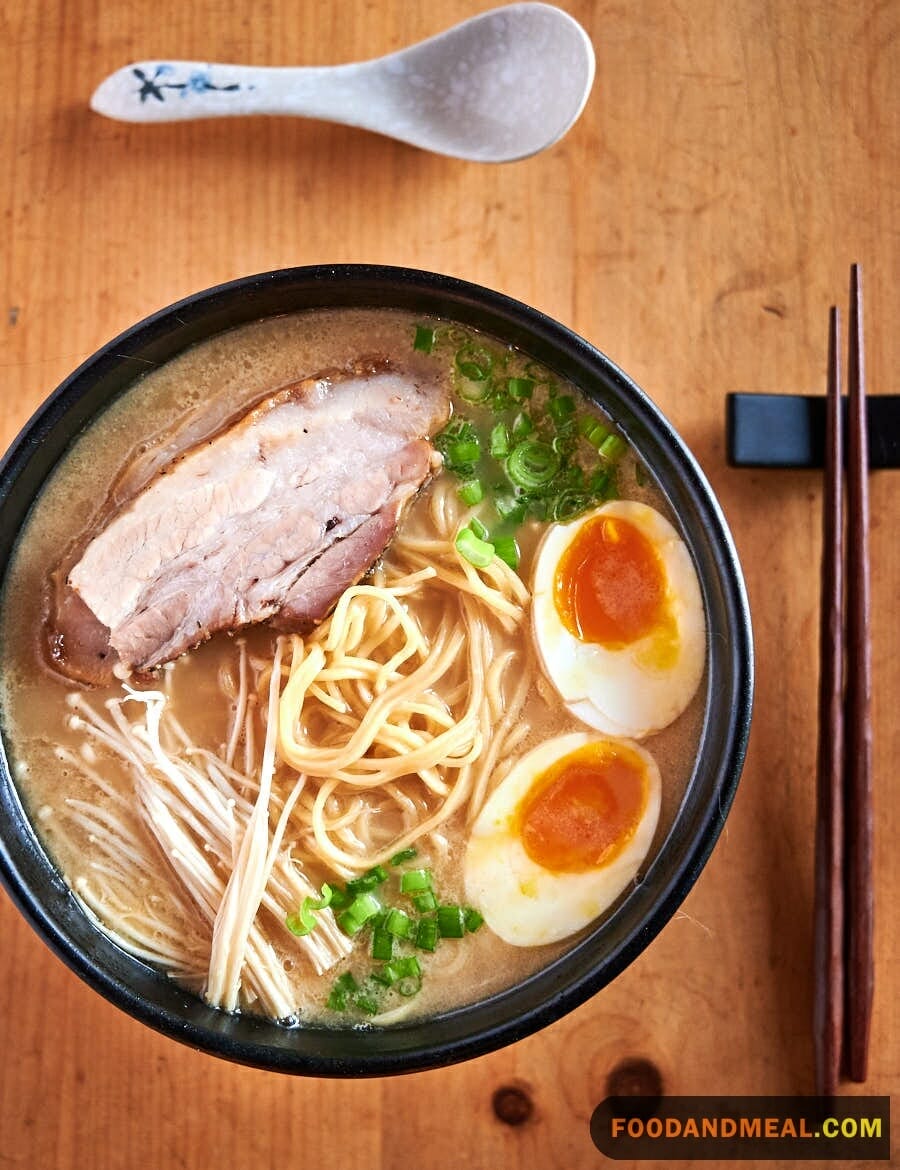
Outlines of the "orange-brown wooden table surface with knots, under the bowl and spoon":
<svg viewBox="0 0 900 1170">
<path fill-rule="evenodd" d="M 900 391 L 900 5 L 568 0 L 597 50 L 593 94 L 561 144 L 504 166 L 317 122 L 142 128 L 88 109 L 136 58 L 335 63 L 487 7 L 4 5 L 0 441 L 119 330 L 235 276 L 408 264 L 536 305 L 655 399 L 735 534 L 758 680 L 724 832 L 682 909 L 591 1003 L 482 1059 L 376 1081 L 263 1073 L 157 1035 L 0 894 L 0 1166 L 589 1168 L 603 1161 L 591 1110 L 625 1060 L 651 1061 L 668 1093 L 812 1092 L 822 482 L 729 468 L 724 395 L 824 388 L 827 308 L 846 304 L 852 261 L 870 390 Z M 878 1094 L 900 1088 L 899 475 L 871 479 Z M 504 1086 L 531 1101 L 527 1123 L 495 1115 Z"/>
</svg>

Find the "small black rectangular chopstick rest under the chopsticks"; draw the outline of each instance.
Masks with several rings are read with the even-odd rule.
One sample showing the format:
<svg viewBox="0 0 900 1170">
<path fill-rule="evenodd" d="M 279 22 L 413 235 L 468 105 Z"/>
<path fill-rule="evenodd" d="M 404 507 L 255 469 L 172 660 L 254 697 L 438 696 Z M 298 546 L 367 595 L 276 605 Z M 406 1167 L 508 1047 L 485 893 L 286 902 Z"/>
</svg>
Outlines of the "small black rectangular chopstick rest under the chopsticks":
<svg viewBox="0 0 900 1170">
<path fill-rule="evenodd" d="M 866 408 L 870 469 L 900 467 L 900 394 L 870 395 Z M 731 467 L 824 467 L 825 395 L 727 394 L 726 454 Z"/>
</svg>

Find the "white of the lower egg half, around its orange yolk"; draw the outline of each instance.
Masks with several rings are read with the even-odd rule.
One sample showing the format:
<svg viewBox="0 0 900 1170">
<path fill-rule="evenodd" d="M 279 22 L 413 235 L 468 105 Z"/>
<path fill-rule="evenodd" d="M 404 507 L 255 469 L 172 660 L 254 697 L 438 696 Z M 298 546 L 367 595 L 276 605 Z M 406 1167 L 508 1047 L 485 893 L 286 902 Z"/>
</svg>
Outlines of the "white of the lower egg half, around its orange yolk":
<svg viewBox="0 0 900 1170">
<path fill-rule="evenodd" d="M 584 873 L 555 873 L 533 861 L 516 834 L 517 810 L 534 782 L 558 759 L 605 736 L 573 731 L 524 755 L 492 793 L 469 835 L 463 862 L 466 897 L 488 927 L 515 947 L 566 938 L 603 914 L 634 876 L 657 831 L 659 769 L 625 741 L 646 768 L 647 803 L 631 840 L 609 862 Z"/>
</svg>

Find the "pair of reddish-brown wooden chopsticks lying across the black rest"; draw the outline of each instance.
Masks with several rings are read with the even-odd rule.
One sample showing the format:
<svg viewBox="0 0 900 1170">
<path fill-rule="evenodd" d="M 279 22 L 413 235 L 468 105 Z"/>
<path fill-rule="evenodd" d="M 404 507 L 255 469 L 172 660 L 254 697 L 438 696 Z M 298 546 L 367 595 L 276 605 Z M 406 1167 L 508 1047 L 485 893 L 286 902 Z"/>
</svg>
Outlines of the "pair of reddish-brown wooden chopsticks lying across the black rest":
<svg viewBox="0 0 900 1170">
<path fill-rule="evenodd" d="M 863 290 L 850 275 L 847 524 L 844 583 L 840 314 L 829 316 L 819 627 L 813 1039 L 816 1090 L 841 1071 L 864 1081 L 872 1014 L 872 732 L 868 600 L 868 432 Z M 846 596 L 846 610 L 845 610 Z"/>
</svg>

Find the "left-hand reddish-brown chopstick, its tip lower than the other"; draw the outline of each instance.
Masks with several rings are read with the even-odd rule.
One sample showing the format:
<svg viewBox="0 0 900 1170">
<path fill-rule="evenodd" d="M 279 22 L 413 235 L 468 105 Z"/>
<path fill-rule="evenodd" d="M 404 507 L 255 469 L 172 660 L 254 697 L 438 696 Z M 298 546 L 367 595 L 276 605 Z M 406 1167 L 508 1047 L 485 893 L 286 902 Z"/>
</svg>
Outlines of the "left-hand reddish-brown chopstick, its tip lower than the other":
<svg viewBox="0 0 900 1170">
<path fill-rule="evenodd" d="M 816 1092 L 833 1096 L 844 1040 L 844 443 L 840 312 L 829 315 L 822 509 L 819 739 L 816 794 L 813 1040 Z"/>
</svg>

